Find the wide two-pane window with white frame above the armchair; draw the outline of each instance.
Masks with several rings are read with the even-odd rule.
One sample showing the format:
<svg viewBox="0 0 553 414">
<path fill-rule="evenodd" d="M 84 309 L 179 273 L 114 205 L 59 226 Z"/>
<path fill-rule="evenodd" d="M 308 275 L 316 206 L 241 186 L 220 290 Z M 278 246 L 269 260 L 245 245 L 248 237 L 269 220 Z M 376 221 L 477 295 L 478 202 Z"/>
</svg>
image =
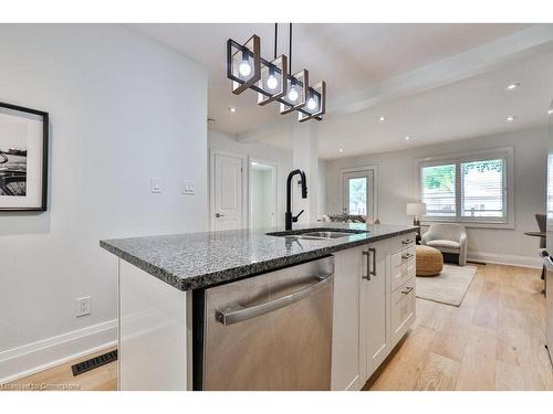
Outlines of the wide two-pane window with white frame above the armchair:
<svg viewBox="0 0 553 414">
<path fill-rule="evenodd" d="M 512 200 L 507 185 L 508 162 L 512 162 L 511 148 L 421 161 L 425 219 L 508 223 Z"/>
</svg>

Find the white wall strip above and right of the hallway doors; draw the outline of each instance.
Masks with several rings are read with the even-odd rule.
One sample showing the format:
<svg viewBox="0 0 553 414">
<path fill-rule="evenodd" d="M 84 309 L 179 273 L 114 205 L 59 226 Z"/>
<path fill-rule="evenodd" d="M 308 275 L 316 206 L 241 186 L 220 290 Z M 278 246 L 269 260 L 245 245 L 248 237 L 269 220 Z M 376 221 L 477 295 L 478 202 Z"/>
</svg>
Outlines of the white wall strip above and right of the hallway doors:
<svg viewBox="0 0 553 414">
<path fill-rule="evenodd" d="M 263 142 L 239 142 L 232 136 L 215 129 L 209 129 L 208 131 L 208 147 L 209 149 L 218 149 L 272 161 L 276 164 L 276 225 L 284 225 L 286 178 L 293 166 L 292 151 L 286 151 Z M 246 174 L 246 177 L 248 176 Z"/>
</svg>

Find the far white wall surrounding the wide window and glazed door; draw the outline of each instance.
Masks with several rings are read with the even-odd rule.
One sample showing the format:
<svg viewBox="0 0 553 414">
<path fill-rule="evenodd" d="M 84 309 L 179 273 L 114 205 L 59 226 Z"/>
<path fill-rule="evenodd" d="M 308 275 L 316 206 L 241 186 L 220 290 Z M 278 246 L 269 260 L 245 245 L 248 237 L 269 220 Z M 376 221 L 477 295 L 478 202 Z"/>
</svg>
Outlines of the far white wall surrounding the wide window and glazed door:
<svg viewBox="0 0 553 414">
<path fill-rule="evenodd" d="M 468 229 L 469 254 L 490 262 L 539 265 L 539 240 L 523 232 L 538 230 L 534 214 L 545 210 L 546 128 L 327 161 L 326 211 L 341 211 L 341 169 L 376 164 L 382 223 L 409 224 L 413 219 L 406 214 L 406 203 L 419 198 L 415 190 L 415 159 L 511 146 L 514 148 L 514 229 Z"/>
</svg>

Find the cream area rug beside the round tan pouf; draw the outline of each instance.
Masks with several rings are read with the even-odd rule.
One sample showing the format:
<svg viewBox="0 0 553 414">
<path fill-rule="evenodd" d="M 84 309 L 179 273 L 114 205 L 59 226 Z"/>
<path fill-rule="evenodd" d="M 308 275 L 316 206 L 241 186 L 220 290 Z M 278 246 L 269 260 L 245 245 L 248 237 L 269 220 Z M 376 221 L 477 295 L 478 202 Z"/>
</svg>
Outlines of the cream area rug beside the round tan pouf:
<svg viewBox="0 0 553 414">
<path fill-rule="evenodd" d="M 474 266 L 444 265 L 439 276 L 417 277 L 417 297 L 439 304 L 461 306 L 476 273 Z"/>
</svg>

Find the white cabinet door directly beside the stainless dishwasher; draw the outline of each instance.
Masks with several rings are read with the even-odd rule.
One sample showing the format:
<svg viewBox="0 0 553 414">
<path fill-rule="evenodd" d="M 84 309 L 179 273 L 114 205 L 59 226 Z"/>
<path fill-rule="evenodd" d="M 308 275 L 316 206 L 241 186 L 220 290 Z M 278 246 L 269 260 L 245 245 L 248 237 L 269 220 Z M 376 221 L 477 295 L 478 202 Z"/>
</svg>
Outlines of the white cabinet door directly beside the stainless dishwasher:
<svg viewBox="0 0 553 414">
<path fill-rule="evenodd" d="M 362 267 L 363 247 L 334 254 L 332 390 L 359 390 L 365 383 L 359 350 Z"/>
</svg>

